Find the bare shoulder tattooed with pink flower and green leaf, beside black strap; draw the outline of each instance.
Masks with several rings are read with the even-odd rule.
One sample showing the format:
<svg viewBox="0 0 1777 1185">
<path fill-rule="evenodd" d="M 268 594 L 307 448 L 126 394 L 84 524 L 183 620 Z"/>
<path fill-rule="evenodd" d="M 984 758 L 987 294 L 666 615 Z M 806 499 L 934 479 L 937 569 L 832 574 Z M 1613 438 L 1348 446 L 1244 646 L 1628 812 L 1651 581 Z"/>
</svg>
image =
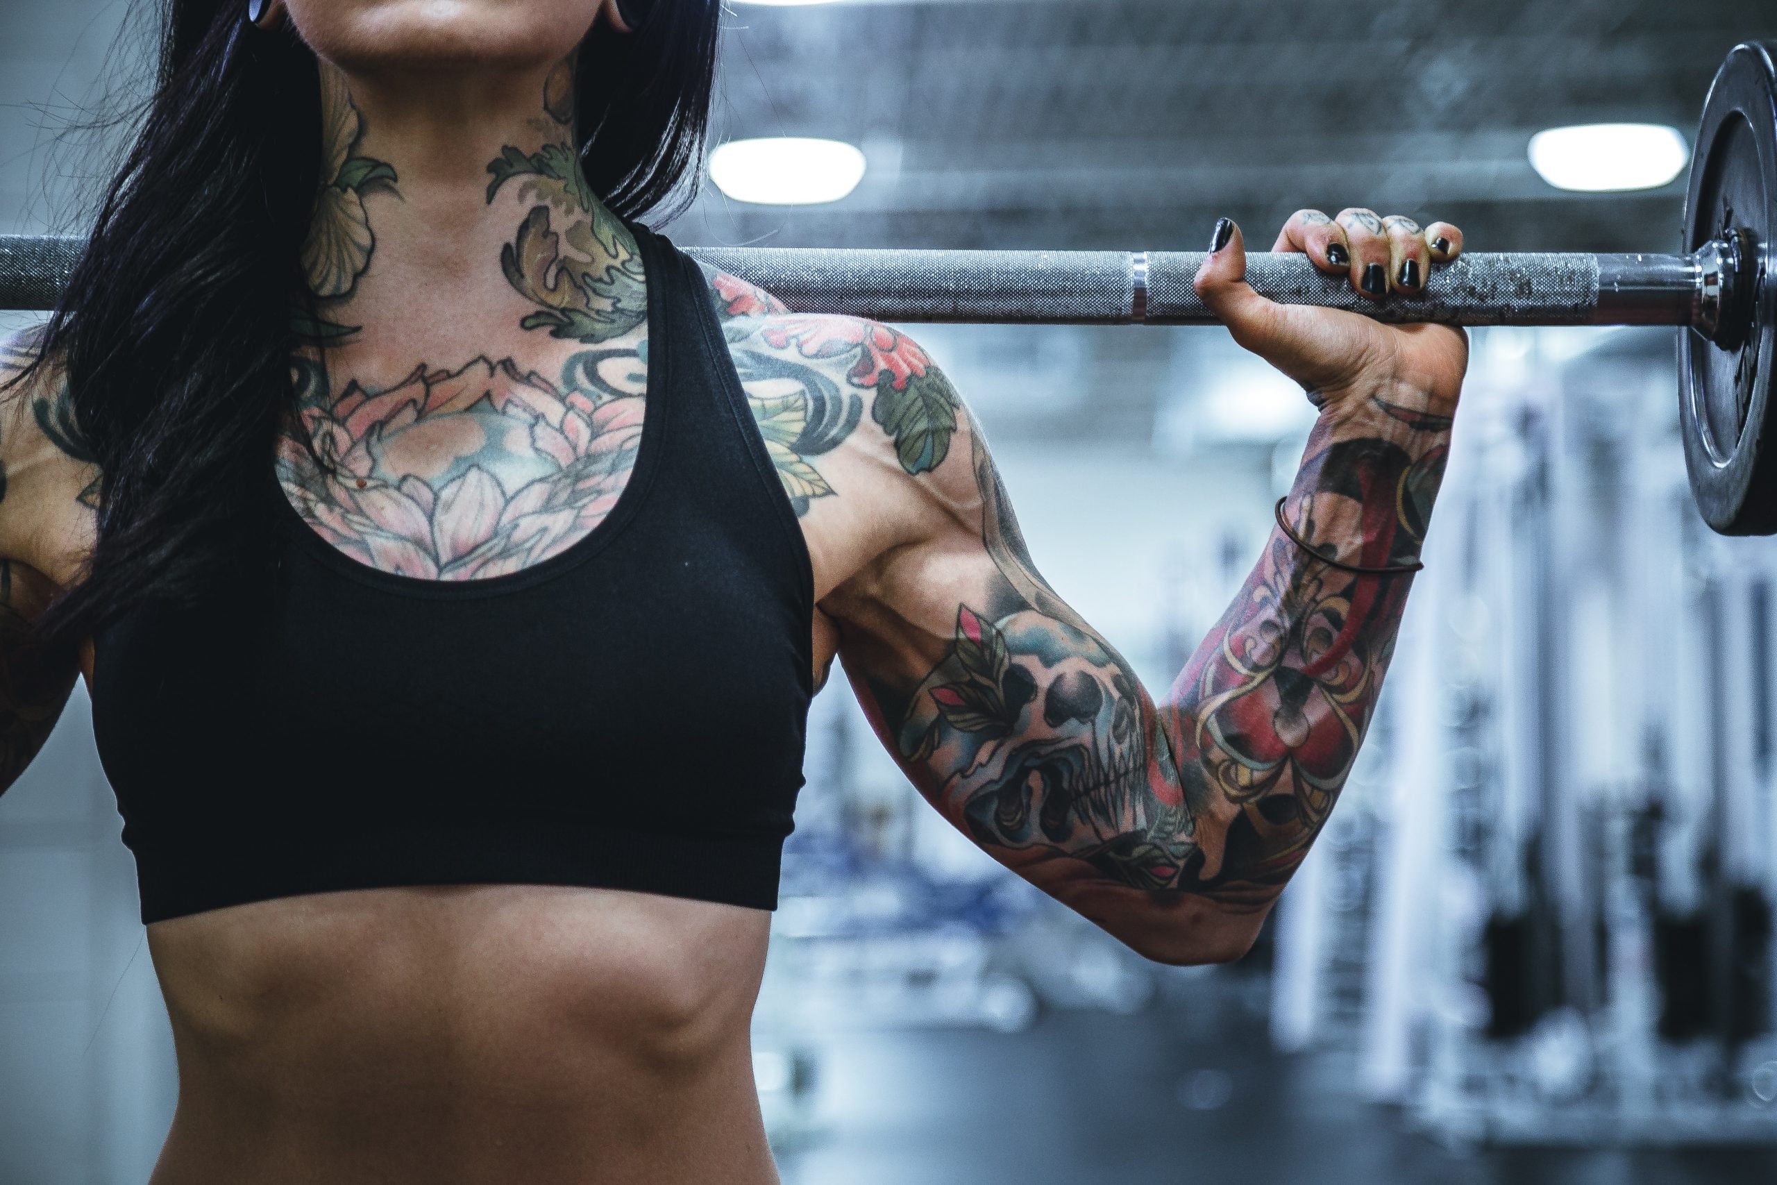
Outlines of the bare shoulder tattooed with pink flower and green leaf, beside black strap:
<svg viewBox="0 0 1777 1185">
<path fill-rule="evenodd" d="M 917 341 L 880 322 L 793 313 L 755 284 L 705 275 L 798 515 L 864 501 L 880 535 L 904 535 L 958 497 L 974 501 L 974 423 Z"/>
</svg>

